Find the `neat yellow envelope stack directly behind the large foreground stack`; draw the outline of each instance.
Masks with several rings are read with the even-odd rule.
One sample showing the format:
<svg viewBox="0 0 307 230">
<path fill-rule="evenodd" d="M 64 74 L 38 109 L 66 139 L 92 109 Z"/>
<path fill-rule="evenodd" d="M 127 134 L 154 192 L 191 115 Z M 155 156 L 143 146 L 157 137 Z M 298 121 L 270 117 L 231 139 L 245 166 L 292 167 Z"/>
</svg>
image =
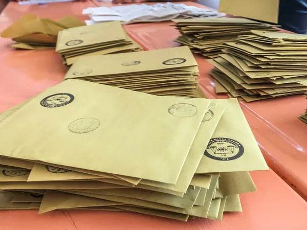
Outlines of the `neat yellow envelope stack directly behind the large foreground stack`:
<svg viewBox="0 0 307 230">
<path fill-rule="evenodd" d="M 154 95 L 194 97 L 198 64 L 188 47 L 80 57 L 65 79 L 137 90 Z"/>
</svg>

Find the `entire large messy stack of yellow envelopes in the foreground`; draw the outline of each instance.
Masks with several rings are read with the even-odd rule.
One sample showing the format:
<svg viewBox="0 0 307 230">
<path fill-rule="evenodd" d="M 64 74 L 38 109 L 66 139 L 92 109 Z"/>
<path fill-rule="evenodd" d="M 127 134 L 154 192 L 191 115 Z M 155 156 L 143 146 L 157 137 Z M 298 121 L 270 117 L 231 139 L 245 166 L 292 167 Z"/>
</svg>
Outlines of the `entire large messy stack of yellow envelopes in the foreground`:
<svg viewBox="0 0 307 230">
<path fill-rule="evenodd" d="M 71 79 L 0 121 L 0 209 L 221 220 L 242 212 L 240 193 L 256 191 L 249 171 L 268 170 L 236 99 Z"/>
</svg>

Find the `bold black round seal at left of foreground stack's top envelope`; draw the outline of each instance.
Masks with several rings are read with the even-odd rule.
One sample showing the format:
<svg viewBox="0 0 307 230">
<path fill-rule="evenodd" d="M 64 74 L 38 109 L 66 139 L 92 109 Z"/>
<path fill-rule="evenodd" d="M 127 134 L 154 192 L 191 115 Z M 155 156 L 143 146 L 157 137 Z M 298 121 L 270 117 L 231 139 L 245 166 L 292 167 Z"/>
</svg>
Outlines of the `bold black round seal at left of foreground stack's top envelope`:
<svg viewBox="0 0 307 230">
<path fill-rule="evenodd" d="M 61 93 L 50 95 L 40 101 L 40 105 L 47 108 L 56 108 L 70 104 L 75 97 L 72 94 Z"/>
</svg>

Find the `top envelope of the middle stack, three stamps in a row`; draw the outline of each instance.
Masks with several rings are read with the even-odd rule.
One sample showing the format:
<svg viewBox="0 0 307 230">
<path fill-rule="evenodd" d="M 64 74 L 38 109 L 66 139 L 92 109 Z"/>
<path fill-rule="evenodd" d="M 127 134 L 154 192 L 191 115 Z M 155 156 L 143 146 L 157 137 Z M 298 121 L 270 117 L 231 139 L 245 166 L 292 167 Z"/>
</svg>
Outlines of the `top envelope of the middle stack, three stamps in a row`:
<svg viewBox="0 0 307 230">
<path fill-rule="evenodd" d="M 85 56 L 79 58 L 65 75 L 65 79 L 89 76 L 135 74 L 197 66 L 187 47 L 142 51 L 124 54 Z"/>
</svg>

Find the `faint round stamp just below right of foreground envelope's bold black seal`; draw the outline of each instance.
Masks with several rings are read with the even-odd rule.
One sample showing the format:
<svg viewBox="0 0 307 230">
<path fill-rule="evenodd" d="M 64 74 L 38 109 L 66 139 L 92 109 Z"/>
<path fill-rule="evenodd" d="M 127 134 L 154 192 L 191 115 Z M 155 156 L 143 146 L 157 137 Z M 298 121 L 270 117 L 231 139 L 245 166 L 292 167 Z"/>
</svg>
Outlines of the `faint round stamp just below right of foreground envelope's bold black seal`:
<svg viewBox="0 0 307 230">
<path fill-rule="evenodd" d="M 80 118 L 69 124 L 68 129 L 73 133 L 92 132 L 100 126 L 100 122 L 94 118 Z"/>
</svg>

